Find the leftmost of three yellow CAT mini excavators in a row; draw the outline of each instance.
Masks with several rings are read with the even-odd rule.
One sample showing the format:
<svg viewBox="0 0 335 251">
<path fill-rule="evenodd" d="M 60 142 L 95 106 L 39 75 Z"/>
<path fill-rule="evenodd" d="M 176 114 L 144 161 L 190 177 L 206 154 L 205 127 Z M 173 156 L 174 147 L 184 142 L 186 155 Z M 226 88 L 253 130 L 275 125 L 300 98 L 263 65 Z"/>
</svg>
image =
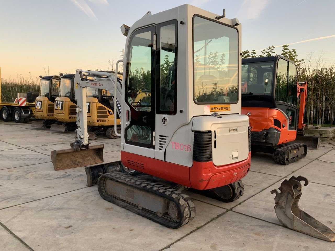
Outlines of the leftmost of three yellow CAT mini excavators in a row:
<svg viewBox="0 0 335 251">
<path fill-rule="evenodd" d="M 60 76 L 40 76 L 40 95 L 35 100 L 35 115 L 42 121 L 32 121 L 32 127 L 50 128 L 55 120 L 55 99 L 59 94 Z"/>
</svg>

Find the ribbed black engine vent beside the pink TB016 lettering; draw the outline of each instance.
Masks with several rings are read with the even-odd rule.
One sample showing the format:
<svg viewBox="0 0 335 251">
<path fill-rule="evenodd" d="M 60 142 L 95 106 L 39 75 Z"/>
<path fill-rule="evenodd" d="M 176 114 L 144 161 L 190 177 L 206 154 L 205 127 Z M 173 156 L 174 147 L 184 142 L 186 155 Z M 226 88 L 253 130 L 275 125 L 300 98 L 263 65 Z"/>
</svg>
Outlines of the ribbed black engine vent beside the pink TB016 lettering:
<svg viewBox="0 0 335 251">
<path fill-rule="evenodd" d="M 212 132 L 194 132 L 193 160 L 212 161 Z"/>
</svg>

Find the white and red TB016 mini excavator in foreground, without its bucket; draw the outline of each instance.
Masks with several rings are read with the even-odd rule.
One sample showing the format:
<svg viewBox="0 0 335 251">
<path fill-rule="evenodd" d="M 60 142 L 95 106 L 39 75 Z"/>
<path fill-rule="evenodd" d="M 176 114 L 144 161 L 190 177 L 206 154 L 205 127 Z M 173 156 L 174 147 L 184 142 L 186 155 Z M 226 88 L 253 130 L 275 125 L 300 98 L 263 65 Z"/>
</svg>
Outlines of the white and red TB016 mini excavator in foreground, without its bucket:
<svg viewBox="0 0 335 251">
<path fill-rule="evenodd" d="M 97 184 L 104 199 L 176 229 L 195 216 L 185 188 L 222 201 L 243 194 L 251 141 L 249 118 L 241 114 L 241 24 L 185 4 L 149 11 L 121 29 L 127 36 L 121 91 L 112 73 L 88 80 L 83 73 L 102 73 L 76 71 L 78 129 L 70 154 L 86 153 L 73 157 L 84 166 L 98 152 L 87 141 L 86 87 L 113 90 L 121 161 L 86 167 L 87 184 Z M 151 95 L 135 101 L 138 90 Z"/>
</svg>

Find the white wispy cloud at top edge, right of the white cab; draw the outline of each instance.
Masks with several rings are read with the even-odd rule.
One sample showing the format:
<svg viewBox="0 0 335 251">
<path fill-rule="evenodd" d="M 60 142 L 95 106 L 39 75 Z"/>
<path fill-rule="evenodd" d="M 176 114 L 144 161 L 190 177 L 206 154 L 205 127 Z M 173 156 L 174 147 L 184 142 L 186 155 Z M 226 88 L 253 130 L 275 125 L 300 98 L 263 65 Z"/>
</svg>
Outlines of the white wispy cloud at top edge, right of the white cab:
<svg viewBox="0 0 335 251">
<path fill-rule="evenodd" d="M 244 0 L 236 16 L 244 20 L 256 19 L 269 3 L 269 0 Z"/>
</svg>

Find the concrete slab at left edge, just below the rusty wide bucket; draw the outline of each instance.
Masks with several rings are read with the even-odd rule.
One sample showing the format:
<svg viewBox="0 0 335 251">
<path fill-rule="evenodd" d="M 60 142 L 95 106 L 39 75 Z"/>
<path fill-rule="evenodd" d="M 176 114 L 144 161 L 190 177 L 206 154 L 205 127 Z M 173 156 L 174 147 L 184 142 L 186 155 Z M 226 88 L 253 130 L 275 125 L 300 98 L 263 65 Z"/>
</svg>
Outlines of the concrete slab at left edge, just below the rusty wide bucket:
<svg viewBox="0 0 335 251">
<path fill-rule="evenodd" d="M 2 209 L 84 188 L 86 174 L 83 167 L 55 171 L 48 162 L 0 170 L 0 184 Z"/>
</svg>

